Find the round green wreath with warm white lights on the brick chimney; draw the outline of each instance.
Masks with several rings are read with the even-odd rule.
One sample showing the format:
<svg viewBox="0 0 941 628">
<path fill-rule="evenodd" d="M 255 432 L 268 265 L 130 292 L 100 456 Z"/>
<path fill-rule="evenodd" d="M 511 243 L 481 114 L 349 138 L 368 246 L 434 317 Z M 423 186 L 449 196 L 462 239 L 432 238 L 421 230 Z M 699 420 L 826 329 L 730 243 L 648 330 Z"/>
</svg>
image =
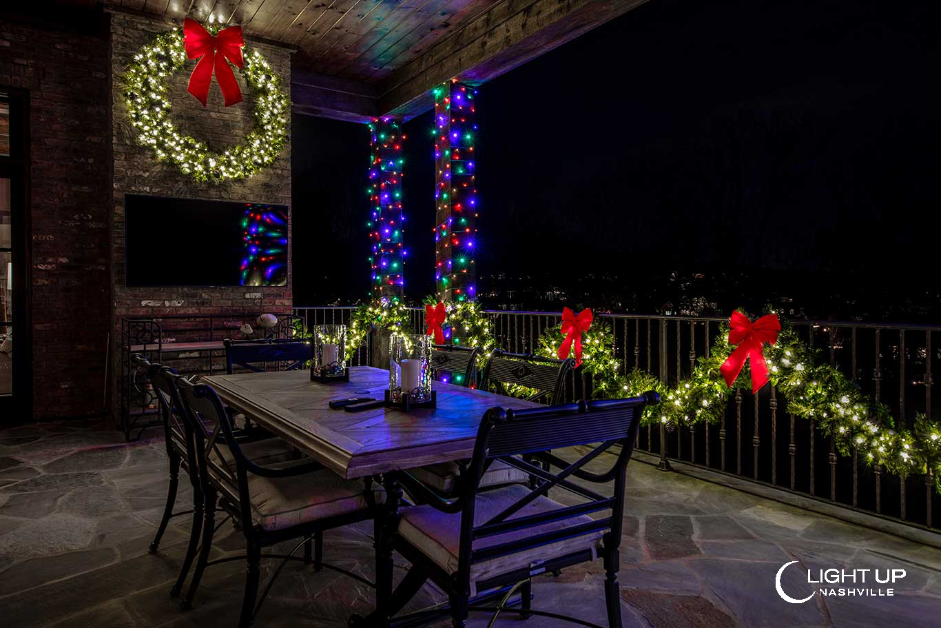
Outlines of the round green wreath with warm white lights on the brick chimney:
<svg viewBox="0 0 941 628">
<path fill-rule="evenodd" d="M 219 26 L 207 26 L 215 35 Z M 170 120 L 167 78 L 183 68 L 183 29 L 158 35 L 134 56 L 123 75 L 124 102 L 137 141 L 157 159 L 169 161 L 197 181 L 220 183 L 251 176 L 274 163 L 287 137 L 290 102 L 281 80 L 262 53 L 246 48 L 245 77 L 254 101 L 255 128 L 241 144 L 213 153 L 204 142 L 183 135 Z"/>
</svg>

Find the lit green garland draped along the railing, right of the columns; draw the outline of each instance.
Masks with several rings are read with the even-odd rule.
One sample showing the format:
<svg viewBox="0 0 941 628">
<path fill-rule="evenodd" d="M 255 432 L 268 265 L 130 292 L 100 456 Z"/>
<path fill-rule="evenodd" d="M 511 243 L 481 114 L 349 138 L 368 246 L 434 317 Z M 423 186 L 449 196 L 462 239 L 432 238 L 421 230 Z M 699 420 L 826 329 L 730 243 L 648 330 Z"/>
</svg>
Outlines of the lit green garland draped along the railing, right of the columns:
<svg viewBox="0 0 941 628">
<path fill-rule="evenodd" d="M 692 426 L 700 421 L 719 422 L 725 416 L 729 394 L 719 367 L 734 348 L 726 342 L 727 337 L 726 324 L 710 355 L 696 362 L 693 376 L 668 387 L 638 369 L 627 376 L 620 375 L 611 332 L 604 323 L 596 323 L 582 335 L 585 346 L 582 368 L 593 377 L 598 397 L 640 395 L 648 390 L 660 393 L 662 403 L 647 409 L 645 424 L 673 427 Z M 561 342 L 560 330 L 548 330 L 541 338 L 540 355 L 554 356 Z M 786 399 L 787 411 L 812 419 L 823 434 L 834 438 L 840 454 L 849 456 L 855 449 L 869 464 L 881 465 L 901 477 L 931 474 L 941 492 L 941 427 L 918 415 L 912 431 L 896 429 L 884 405 L 871 403 L 837 368 L 818 363 L 817 352 L 806 346 L 787 323 L 774 346 L 765 346 L 764 355 L 771 383 Z M 732 388 L 751 389 L 748 364 Z"/>
</svg>

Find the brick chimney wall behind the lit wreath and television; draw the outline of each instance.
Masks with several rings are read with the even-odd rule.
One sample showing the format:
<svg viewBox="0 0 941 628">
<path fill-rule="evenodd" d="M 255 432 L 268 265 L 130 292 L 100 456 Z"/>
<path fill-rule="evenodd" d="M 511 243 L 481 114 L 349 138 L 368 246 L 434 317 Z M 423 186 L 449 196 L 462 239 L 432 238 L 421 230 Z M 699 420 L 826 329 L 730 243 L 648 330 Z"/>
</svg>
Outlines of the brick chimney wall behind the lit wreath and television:
<svg viewBox="0 0 941 628">
<path fill-rule="evenodd" d="M 124 194 L 151 194 L 187 199 L 270 202 L 291 204 L 290 142 L 270 168 L 242 181 L 213 185 L 200 184 L 175 167 L 158 162 L 149 149 L 136 144 L 134 131 L 127 122 L 120 74 L 127 60 L 171 24 L 121 13 L 111 18 L 112 128 L 114 133 L 114 194 L 111 200 L 111 268 L 115 332 L 120 333 L 120 317 L 125 315 L 220 314 L 228 312 L 287 312 L 292 305 L 291 241 L 288 243 L 288 284 L 280 287 L 213 288 L 141 288 L 124 282 Z M 282 78 L 291 81 L 288 50 L 247 41 L 257 45 Z M 242 140 L 250 130 L 251 99 L 241 75 L 236 72 L 245 101 L 225 107 L 218 85 L 213 80 L 208 108 L 187 93 L 189 70 L 176 72 L 170 80 L 173 120 L 183 130 L 220 151 Z M 160 217 L 154 217 L 159 219 Z M 154 254 L 180 255 L 185 251 L 153 243 Z M 117 358 L 117 356 L 116 356 Z M 120 362 L 115 362 L 120 363 Z"/>
</svg>

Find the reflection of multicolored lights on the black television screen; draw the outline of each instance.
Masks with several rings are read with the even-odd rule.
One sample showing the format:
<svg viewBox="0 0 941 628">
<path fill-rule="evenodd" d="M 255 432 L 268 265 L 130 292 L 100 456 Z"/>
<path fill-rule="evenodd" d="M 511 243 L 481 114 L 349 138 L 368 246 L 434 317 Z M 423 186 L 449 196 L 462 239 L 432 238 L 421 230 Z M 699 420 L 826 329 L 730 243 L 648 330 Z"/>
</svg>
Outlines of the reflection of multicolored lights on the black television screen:
<svg viewBox="0 0 941 628">
<path fill-rule="evenodd" d="M 270 205 L 247 203 L 242 230 L 241 284 L 287 285 L 287 215 Z"/>
</svg>

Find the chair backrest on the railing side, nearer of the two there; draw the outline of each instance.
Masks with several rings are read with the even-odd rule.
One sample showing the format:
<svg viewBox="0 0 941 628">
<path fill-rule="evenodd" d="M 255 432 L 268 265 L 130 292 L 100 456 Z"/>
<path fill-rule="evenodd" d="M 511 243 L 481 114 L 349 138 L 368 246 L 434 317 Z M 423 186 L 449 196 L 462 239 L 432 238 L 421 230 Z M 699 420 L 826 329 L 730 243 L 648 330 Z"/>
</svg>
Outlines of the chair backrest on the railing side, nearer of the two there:
<svg viewBox="0 0 941 628">
<path fill-rule="evenodd" d="M 550 404 L 558 404 L 565 391 L 566 375 L 575 362 L 553 360 L 518 353 L 494 351 L 486 364 L 484 388 L 495 387 L 503 392 L 503 384 L 517 384 L 539 391 L 539 395 L 548 397 Z"/>
</svg>

